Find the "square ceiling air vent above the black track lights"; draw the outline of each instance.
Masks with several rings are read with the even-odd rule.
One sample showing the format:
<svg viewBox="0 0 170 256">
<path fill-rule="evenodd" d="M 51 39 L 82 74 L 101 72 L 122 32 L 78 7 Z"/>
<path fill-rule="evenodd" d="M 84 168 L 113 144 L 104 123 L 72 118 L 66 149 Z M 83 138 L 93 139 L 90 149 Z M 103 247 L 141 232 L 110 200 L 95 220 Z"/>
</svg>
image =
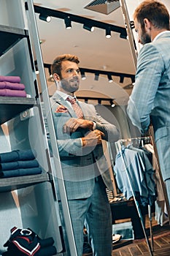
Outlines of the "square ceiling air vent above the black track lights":
<svg viewBox="0 0 170 256">
<path fill-rule="evenodd" d="M 119 0 L 94 0 L 88 4 L 85 9 L 109 14 L 110 12 L 116 10 L 118 7 L 120 7 Z"/>
</svg>

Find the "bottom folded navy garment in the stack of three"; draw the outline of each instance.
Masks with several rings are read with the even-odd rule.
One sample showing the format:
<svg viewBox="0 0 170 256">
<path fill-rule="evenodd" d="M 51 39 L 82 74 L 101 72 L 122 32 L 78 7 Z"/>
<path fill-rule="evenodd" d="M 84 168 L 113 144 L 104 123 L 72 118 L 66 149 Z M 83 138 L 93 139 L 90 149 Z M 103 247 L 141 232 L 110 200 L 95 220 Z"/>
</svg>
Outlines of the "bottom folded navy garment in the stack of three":
<svg viewBox="0 0 170 256">
<path fill-rule="evenodd" d="M 18 176 L 27 176 L 42 173 L 40 167 L 35 168 L 25 168 L 25 169 L 16 169 L 16 170 L 0 170 L 0 178 L 11 178 Z"/>
</svg>

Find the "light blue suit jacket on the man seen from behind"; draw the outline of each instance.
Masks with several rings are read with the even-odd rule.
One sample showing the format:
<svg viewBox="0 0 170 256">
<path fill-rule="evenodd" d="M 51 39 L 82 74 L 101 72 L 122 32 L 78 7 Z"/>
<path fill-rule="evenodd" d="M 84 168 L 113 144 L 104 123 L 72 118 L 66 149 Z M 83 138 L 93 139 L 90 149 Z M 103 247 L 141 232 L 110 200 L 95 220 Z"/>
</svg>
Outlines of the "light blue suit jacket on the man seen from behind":
<svg viewBox="0 0 170 256">
<path fill-rule="evenodd" d="M 142 132 L 152 119 L 163 179 L 170 178 L 170 31 L 139 51 L 128 116 Z"/>
</svg>

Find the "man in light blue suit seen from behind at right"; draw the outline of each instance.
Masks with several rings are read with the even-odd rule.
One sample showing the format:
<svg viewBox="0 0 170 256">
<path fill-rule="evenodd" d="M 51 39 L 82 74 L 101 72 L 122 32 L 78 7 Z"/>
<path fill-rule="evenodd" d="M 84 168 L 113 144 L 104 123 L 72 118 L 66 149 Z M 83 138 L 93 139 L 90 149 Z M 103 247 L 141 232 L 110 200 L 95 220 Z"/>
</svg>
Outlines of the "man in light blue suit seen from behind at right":
<svg viewBox="0 0 170 256">
<path fill-rule="evenodd" d="M 155 144 L 170 203 L 170 31 L 169 11 L 146 0 L 134 12 L 134 26 L 144 45 L 137 59 L 128 116 L 142 133 L 152 121 Z M 169 207 L 169 206 L 167 206 Z"/>
</svg>

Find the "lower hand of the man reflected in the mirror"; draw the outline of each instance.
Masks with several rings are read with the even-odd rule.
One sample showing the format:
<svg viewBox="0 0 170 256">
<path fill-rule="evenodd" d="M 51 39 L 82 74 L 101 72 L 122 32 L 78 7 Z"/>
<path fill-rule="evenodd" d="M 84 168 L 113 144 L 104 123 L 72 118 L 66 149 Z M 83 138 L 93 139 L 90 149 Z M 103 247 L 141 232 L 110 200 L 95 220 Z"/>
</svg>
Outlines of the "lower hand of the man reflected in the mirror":
<svg viewBox="0 0 170 256">
<path fill-rule="evenodd" d="M 96 146 L 101 144 L 101 137 L 104 136 L 104 133 L 98 129 L 88 132 L 88 135 L 82 138 L 82 146 Z"/>
</svg>

